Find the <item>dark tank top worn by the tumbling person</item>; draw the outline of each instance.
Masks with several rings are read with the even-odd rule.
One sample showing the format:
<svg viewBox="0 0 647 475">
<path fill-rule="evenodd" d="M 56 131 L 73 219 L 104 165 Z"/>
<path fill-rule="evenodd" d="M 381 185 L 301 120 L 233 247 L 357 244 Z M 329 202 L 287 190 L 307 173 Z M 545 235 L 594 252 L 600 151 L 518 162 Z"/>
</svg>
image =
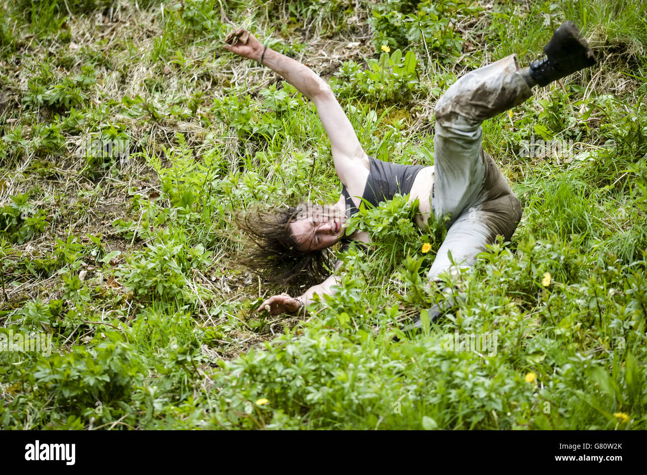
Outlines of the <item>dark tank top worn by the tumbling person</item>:
<svg viewBox="0 0 647 475">
<path fill-rule="evenodd" d="M 425 165 L 392 164 L 369 156 L 369 172 L 362 200 L 372 206 L 377 206 L 380 201 L 393 199 L 397 193 L 403 196 L 408 195 L 415 176 L 424 167 Z M 342 188 L 342 195 L 344 195 L 346 203 L 346 215 L 350 218 L 359 209 L 353 203 L 353 198 L 345 186 Z"/>
</svg>

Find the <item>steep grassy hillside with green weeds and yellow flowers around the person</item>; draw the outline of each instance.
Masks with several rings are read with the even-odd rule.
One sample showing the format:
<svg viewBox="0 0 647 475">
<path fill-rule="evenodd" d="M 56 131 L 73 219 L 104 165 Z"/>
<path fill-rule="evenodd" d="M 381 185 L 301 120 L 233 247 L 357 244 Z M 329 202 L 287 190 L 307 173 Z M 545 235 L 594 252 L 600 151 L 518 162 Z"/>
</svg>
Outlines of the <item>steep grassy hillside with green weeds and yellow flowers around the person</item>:
<svg viewBox="0 0 647 475">
<path fill-rule="evenodd" d="M 3 1 L 0 428 L 647 428 L 646 5 Z M 443 91 L 564 19 L 598 65 L 484 124 L 523 219 L 452 278 L 455 315 L 392 339 L 441 298 L 439 227 L 398 197 L 334 299 L 254 312 L 285 289 L 237 264 L 234 213 L 341 186 L 314 105 L 227 32 L 329 79 L 368 154 L 431 165 Z"/>
</svg>

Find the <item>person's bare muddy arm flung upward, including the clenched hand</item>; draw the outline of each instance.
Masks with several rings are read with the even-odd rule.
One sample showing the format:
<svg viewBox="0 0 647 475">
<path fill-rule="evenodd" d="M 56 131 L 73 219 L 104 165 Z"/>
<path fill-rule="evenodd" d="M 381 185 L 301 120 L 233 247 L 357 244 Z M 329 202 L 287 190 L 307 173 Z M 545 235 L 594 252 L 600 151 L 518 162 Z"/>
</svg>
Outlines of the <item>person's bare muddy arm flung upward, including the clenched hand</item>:
<svg viewBox="0 0 647 475">
<path fill-rule="evenodd" d="M 254 35 L 243 28 L 228 34 L 225 42 L 231 45 L 226 46 L 226 49 L 243 58 L 258 62 L 262 59 L 263 65 L 283 76 L 314 102 L 323 128 L 331 141 L 334 167 L 339 179 L 351 196 L 361 196 L 369 171 L 368 156 L 328 83 L 302 63 L 263 47 Z"/>
</svg>

